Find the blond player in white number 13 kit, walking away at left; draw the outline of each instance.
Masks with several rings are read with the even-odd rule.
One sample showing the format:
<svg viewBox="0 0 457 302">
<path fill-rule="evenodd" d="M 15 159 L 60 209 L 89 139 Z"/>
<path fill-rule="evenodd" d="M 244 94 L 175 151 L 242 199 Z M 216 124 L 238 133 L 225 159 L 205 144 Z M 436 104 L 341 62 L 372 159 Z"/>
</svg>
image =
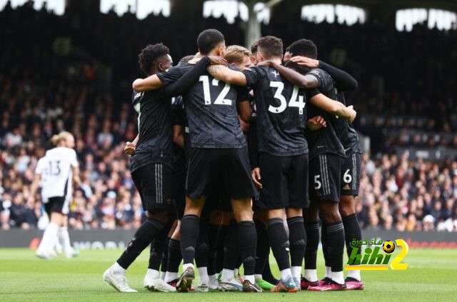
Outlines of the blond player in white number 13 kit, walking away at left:
<svg viewBox="0 0 457 302">
<path fill-rule="evenodd" d="M 56 245 L 60 242 L 67 258 L 73 256 L 67 230 L 67 215 L 72 198 L 73 183 L 79 186 L 79 163 L 74 151 L 74 137 L 69 132 L 61 132 L 51 139 L 54 149 L 36 163 L 35 178 L 31 185 L 29 204 L 34 202 L 36 190 L 41 186 L 41 201 L 49 216 L 49 225 L 44 231 L 36 251 L 40 258 L 52 258 Z"/>
</svg>

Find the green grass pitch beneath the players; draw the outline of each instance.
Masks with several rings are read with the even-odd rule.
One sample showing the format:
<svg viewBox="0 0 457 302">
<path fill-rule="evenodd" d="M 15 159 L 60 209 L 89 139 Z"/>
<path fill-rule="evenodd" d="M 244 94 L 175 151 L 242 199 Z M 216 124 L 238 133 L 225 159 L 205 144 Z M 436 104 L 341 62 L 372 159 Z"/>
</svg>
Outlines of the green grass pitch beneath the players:
<svg viewBox="0 0 457 302">
<path fill-rule="evenodd" d="M 118 293 L 101 275 L 120 253 L 81 251 L 78 258 L 46 261 L 26 248 L 1 248 L 0 301 L 456 301 L 456 250 L 410 248 L 402 261 L 409 263 L 406 271 L 362 271 L 364 291 L 327 293 L 151 293 L 142 287 L 149 249 L 126 275 L 139 293 Z M 319 254 L 321 277 L 323 259 Z M 395 251 L 393 256 L 397 254 Z M 271 263 L 275 263 L 273 259 Z M 278 276 L 276 264 L 272 269 Z"/>
</svg>

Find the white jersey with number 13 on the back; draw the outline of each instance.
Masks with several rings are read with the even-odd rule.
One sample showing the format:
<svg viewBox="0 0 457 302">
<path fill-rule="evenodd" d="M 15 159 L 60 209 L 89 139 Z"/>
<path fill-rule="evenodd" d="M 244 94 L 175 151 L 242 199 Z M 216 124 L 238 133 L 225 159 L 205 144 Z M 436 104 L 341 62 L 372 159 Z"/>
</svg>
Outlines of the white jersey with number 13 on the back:
<svg viewBox="0 0 457 302">
<path fill-rule="evenodd" d="M 36 163 L 35 173 L 41 175 L 41 197 L 47 203 L 51 197 L 72 197 L 72 168 L 79 166 L 76 152 L 66 147 L 46 151 Z"/>
</svg>

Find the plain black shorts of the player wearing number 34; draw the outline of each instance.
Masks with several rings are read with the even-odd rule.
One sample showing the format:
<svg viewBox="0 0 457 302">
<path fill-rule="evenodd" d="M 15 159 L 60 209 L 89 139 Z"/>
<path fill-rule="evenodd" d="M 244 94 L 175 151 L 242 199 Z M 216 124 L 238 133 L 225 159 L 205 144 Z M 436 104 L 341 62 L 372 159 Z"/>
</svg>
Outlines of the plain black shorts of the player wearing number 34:
<svg viewBox="0 0 457 302">
<path fill-rule="evenodd" d="M 258 208 L 307 208 L 308 154 L 297 156 L 260 155 L 262 189 Z"/>
</svg>

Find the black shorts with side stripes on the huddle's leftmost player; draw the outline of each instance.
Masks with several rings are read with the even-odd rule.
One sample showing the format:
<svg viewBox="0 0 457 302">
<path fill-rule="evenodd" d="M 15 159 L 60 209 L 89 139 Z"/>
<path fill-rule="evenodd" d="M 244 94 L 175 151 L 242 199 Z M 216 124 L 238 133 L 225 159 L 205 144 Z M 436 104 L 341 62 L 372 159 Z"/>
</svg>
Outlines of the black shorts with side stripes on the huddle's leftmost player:
<svg viewBox="0 0 457 302">
<path fill-rule="evenodd" d="M 173 169 L 164 163 L 149 163 L 131 173 L 144 211 L 171 206 Z"/>
</svg>

